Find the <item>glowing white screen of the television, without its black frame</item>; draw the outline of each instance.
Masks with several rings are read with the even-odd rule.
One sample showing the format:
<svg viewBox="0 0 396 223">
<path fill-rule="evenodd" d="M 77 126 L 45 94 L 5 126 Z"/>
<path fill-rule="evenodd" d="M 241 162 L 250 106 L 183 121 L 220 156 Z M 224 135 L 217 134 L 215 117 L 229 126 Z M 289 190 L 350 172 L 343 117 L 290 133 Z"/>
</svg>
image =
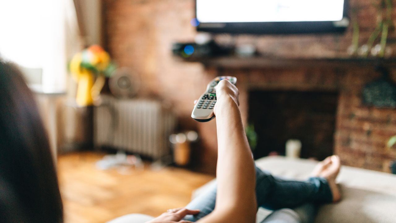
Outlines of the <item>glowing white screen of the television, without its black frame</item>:
<svg viewBox="0 0 396 223">
<path fill-rule="evenodd" d="M 200 23 L 340 21 L 344 0 L 196 0 Z"/>
</svg>

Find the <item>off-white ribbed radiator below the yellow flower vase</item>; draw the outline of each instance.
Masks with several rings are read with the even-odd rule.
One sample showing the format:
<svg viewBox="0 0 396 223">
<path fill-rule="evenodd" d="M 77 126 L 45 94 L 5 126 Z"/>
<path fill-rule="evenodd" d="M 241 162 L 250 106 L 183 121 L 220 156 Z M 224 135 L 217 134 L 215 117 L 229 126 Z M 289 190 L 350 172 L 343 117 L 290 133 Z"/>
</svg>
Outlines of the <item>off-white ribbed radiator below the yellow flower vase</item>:
<svg viewBox="0 0 396 223">
<path fill-rule="evenodd" d="M 158 101 L 102 96 L 94 110 L 94 144 L 159 159 L 170 154 L 176 119 Z"/>
</svg>

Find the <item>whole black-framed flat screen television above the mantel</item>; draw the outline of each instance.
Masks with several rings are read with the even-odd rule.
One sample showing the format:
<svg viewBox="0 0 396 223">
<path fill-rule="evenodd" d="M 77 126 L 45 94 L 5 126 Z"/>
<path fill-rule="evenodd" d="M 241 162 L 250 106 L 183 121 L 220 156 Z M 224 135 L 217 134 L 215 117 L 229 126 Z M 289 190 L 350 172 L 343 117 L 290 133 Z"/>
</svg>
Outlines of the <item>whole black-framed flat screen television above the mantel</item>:
<svg viewBox="0 0 396 223">
<path fill-rule="evenodd" d="M 330 33 L 349 25 L 346 0 L 196 0 L 198 31 Z"/>
</svg>

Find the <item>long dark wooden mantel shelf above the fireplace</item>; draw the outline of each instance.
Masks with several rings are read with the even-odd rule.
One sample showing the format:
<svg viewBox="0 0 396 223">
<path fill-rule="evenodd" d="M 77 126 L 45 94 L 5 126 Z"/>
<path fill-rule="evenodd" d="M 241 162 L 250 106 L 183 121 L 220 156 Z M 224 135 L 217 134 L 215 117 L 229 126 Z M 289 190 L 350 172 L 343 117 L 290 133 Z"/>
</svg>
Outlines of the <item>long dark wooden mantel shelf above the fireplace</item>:
<svg viewBox="0 0 396 223">
<path fill-rule="evenodd" d="M 242 58 L 224 56 L 213 58 L 184 58 L 185 62 L 199 62 L 218 68 L 291 68 L 291 67 L 396 67 L 396 58 L 270 58 L 255 56 Z"/>
</svg>

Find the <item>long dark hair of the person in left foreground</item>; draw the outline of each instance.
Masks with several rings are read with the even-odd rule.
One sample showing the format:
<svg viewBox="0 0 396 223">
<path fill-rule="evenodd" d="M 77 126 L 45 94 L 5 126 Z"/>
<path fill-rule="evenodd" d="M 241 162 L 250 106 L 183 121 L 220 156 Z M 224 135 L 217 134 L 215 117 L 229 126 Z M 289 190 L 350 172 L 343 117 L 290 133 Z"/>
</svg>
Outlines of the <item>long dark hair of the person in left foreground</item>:
<svg viewBox="0 0 396 223">
<path fill-rule="evenodd" d="M 20 71 L 1 60 L 0 221 L 63 222 L 55 166 L 35 98 Z"/>
</svg>

